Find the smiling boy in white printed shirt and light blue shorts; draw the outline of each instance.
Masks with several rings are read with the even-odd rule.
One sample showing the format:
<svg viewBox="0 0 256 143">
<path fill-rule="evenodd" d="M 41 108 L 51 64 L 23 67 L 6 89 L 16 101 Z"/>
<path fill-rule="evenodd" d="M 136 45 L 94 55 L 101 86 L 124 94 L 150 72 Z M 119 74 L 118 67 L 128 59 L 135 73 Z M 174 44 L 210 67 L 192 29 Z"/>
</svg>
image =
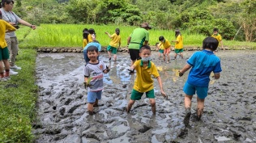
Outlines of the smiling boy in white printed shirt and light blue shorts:
<svg viewBox="0 0 256 143">
<path fill-rule="evenodd" d="M 93 115 L 93 107 L 98 106 L 103 90 L 103 74 L 109 73 L 109 67 L 103 61 L 97 60 L 100 55 L 96 46 L 87 48 L 87 56 L 90 59 L 84 67 L 84 87 L 87 88 L 87 110 Z"/>
</svg>

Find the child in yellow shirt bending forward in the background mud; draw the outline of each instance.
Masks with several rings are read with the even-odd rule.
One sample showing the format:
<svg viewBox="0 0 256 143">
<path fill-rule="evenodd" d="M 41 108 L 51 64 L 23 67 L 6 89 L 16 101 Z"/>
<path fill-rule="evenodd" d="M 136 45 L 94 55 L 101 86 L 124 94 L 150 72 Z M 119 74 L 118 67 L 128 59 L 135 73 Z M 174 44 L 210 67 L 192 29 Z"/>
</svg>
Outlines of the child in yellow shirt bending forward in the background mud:
<svg viewBox="0 0 256 143">
<path fill-rule="evenodd" d="M 160 36 L 159 37 L 159 41 L 161 42 L 159 47 L 161 47 L 163 45 L 164 47 L 164 61 L 165 61 L 165 56 L 167 57 L 167 62 L 166 63 L 170 63 L 170 56 L 169 53 L 171 52 L 171 44 L 169 42 L 169 40 L 164 39 L 164 36 Z"/>
</svg>

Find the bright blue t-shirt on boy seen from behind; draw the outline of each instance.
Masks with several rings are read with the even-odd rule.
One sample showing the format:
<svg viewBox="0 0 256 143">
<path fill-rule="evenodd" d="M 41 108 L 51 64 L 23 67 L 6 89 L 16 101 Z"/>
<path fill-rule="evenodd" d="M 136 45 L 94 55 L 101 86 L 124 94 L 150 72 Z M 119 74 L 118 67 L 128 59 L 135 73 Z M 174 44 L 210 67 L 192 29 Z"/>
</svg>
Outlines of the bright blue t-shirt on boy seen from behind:
<svg viewBox="0 0 256 143">
<path fill-rule="evenodd" d="M 194 86 L 209 86 L 211 72 L 217 74 L 222 71 L 220 58 L 216 57 L 212 51 L 195 52 L 187 63 L 192 66 L 187 82 Z"/>
</svg>

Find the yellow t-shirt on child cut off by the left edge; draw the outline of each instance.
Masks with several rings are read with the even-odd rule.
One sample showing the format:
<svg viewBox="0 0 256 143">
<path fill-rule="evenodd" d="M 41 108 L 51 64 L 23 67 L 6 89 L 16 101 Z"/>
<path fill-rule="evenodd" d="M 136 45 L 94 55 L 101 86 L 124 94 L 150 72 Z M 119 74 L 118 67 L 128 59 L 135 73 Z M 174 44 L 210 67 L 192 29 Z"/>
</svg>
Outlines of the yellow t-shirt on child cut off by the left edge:
<svg viewBox="0 0 256 143">
<path fill-rule="evenodd" d="M 6 21 L 0 19 L 0 47 L 1 48 L 6 48 L 7 43 L 5 40 L 6 36 L 6 30 L 15 30 L 15 27 L 11 26 L 10 23 L 7 23 Z"/>
</svg>

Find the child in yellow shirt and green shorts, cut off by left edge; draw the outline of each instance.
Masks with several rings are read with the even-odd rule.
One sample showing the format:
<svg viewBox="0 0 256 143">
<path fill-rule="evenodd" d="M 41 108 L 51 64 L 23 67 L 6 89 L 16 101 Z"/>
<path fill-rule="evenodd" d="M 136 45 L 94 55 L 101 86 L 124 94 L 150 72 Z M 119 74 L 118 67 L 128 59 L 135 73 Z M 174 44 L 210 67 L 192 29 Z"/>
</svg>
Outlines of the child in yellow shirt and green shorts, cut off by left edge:
<svg viewBox="0 0 256 143">
<path fill-rule="evenodd" d="M 0 11 L 0 82 L 11 79 L 10 78 L 10 64 L 8 61 L 9 53 L 5 40 L 6 32 L 14 32 L 16 29 L 11 24 L 2 20 L 2 14 Z M 5 65 L 5 72 L 3 70 L 2 62 Z"/>
</svg>

